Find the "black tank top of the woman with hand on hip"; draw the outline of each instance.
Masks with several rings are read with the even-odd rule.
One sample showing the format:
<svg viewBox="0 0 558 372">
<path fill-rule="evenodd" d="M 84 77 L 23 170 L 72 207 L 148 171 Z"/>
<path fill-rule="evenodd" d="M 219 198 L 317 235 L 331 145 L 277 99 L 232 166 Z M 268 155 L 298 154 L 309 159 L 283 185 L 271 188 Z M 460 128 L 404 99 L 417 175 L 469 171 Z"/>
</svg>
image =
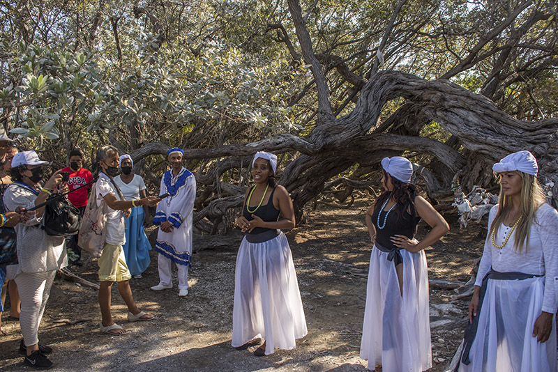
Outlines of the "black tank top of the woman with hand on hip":
<svg viewBox="0 0 558 372">
<path fill-rule="evenodd" d="M 414 238 L 416 234 L 416 225 L 421 220 L 421 217 L 414 215 L 414 206 L 411 206 L 413 215 L 407 211 L 408 208 L 405 208 L 399 220 L 395 208 L 389 212 L 385 225 L 384 218 L 386 217 L 387 211 L 379 211 L 379 224 L 380 226 L 384 226 L 384 228 L 378 227 L 378 211 L 375 210 L 375 212 L 372 213 L 372 223 L 376 228 L 376 241 L 379 245 L 388 249 L 397 249 L 397 246 L 391 242 L 391 237 L 393 235 L 405 235 L 407 238 Z"/>
</svg>

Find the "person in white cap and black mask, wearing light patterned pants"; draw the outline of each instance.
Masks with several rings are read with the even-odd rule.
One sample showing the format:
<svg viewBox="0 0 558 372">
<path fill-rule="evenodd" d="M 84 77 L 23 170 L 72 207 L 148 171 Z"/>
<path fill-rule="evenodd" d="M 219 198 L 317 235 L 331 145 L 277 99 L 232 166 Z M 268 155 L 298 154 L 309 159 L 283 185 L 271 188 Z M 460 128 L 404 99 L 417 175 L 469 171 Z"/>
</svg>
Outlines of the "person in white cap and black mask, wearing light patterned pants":
<svg viewBox="0 0 558 372">
<path fill-rule="evenodd" d="M 35 151 L 23 151 L 14 155 L 10 170 L 14 183 L 3 195 L 7 210 L 33 208 L 46 201 L 50 194 L 57 192 L 56 186 L 62 183 L 59 171 L 54 172 L 43 187 L 40 186 L 45 164 L 48 162 L 40 160 Z M 52 352 L 52 348 L 39 343 L 38 327 L 54 275 L 57 270 L 68 265 L 64 238 L 47 235 L 40 228 L 44 210 L 44 207 L 38 208 L 36 215 L 27 223 L 15 226 L 18 263 L 8 267 L 15 277 L 21 299 L 20 327 L 23 339 L 20 351 L 26 354 L 24 364 L 43 369 L 52 366 L 46 356 Z"/>
</svg>

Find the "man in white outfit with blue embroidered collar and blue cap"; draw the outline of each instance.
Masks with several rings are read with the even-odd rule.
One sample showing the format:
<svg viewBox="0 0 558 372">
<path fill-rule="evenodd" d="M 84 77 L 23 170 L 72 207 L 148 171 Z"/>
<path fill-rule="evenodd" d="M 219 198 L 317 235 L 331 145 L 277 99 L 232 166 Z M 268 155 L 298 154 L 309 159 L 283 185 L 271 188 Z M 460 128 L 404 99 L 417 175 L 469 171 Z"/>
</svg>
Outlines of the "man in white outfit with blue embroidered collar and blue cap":
<svg viewBox="0 0 558 372">
<path fill-rule="evenodd" d="M 188 268 L 192 255 L 193 208 L 196 180 L 182 166 L 183 150 L 171 148 L 167 160 L 171 169 L 161 180 L 160 194 L 168 193 L 157 206 L 153 224 L 159 226 L 155 250 L 158 252 L 159 284 L 152 290 L 172 288 L 171 265 L 179 271 L 179 296 L 188 295 Z"/>
</svg>

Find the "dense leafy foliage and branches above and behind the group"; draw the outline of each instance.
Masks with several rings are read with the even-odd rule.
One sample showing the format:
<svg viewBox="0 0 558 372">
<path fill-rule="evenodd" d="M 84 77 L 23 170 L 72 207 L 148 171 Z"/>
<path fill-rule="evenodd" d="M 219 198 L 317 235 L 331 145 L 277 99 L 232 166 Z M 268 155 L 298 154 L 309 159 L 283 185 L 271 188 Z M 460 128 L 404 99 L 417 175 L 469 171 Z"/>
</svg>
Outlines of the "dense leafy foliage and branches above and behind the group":
<svg viewBox="0 0 558 372">
<path fill-rule="evenodd" d="M 382 70 L 450 79 L 516 119 L 557 114 L 553 1 L 300 5 L 335 118 L 356 109 L 361 89 Z M 167 146 L 305 137 L 320 120 L 320 79 L 303 58 L 292 14 L 287 1 L 2 1 L 1 123 L 22 146 L 59 164 L 75 146 L 91 154 L 110 142 L 150 164 L 142 169 L 152 180 L 161 157 L 150 155 Z M 430 137 L 471 155 L 448 127 L 425 120 L 413 105 L 401 95 L 386 100 L 372 129 Z M 134 153 L 146 144 L 157 146 Z M 285 160 L 300 155 L 294 148 L 283 153 Z M 207 173 L 219 154 L 191 153 L 191 166 Z M 354 178 L 369 173 L 356 163 L 345 167 Z M 227 172 L 218 176 L 231 179 Z M 453 175 L 443 173 L 436 176 L 447 184 Z M 199 206 L 216 189 L 209 187 Z"/>
</svg>

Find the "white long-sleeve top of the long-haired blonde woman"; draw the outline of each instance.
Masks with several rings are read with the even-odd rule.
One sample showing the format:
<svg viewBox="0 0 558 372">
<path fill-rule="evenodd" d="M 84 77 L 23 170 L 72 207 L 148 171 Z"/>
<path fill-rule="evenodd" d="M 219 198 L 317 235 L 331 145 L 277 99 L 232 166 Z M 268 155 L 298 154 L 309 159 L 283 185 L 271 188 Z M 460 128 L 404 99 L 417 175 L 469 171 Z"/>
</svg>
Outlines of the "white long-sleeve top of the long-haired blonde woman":
<svg viewBox="0 0 558 372">
<path fill-rule="evenodd" d="M 498 206 L 492 207 L 488 218 L 488 227 L 494 221 Z M 495 242 L 502 245 L 511 227 L 502 224 L 495 233 Z M 558 307 L 558 211 L 544 203 L 536 211 L 531 224 L 531 234 L 527 249 L 517 251 L 514 247 L 515 231 L 502 249 L 495 247 L 490 238 L 490 230 L 484 243 L 483 256 L 478 265 L 476 286 L 481 286 L 483 277 L 490 267 L 498 272 L 523 272 L 525 274 L 544 275 L 545 293 L 543 311 L 556 313 Z"/>
</svg>

